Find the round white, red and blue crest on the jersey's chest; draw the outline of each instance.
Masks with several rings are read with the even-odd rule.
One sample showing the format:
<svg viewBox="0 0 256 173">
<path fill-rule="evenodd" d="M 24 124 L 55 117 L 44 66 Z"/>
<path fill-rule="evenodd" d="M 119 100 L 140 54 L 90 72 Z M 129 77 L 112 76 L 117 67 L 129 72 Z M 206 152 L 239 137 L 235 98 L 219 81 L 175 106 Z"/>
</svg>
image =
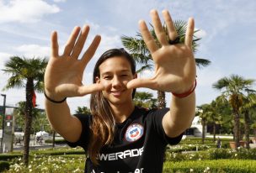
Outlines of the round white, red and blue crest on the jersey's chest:
<svg viewBox="0 0 256 173">
<path fill-rule="evenodd" d="M 125 132 L 125 139 L 128 141 L 128 142 L 134 142 L 136 141 L 137 139 L 140 139 L 141 136 L 143 135 L 144 133 L 144 128 L 143 126 L 141 126 L 141 124 L 138 124 L 138 123 L 133 123 L 131 124 L 127 129 L 126 129 L 126 132 Z"/>
</svg>

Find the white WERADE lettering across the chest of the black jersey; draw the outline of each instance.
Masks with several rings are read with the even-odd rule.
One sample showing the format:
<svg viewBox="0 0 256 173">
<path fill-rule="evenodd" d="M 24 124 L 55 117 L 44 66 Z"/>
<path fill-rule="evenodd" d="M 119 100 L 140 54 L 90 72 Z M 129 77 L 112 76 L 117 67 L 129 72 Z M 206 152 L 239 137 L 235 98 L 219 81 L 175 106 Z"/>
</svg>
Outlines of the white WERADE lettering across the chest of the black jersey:
<svg viewBox="0 0 256 173">
<path fill-rule="evenodd" d="M 142 155 L 143 147 L 141 149 L 127 149 L 123 152 L 97 155 L 97 160 L 123 160 L 125 158 L 137 157 Z"/>
</svg>

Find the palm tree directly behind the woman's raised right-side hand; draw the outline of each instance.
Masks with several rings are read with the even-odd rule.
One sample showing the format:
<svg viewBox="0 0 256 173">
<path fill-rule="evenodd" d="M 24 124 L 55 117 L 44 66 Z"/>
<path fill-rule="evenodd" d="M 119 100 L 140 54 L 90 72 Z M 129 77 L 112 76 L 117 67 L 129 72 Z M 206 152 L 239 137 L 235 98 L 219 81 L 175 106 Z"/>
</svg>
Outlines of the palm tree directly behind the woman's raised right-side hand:
<svg viewBox="0 0 256 173">
<path fill-rule="evenodd" d="M 184 37 L 185 37 L 186 29 L 187 29 L 187 23 L 182 20 L 178 20 L 178 21 L 174 21 L 174 26 L 179 35 L 180 43 L 184 43 Z M 165 29 L 167 37 L 168 37 L 167 27 L 165 24 L 163 24 L 163 29 Z M 195 32 L 198 32 L 198 30 L 196 30 Z M 155 34 L 153 27 L 151 29 L 151 33 L 152 33 L 152 36 L 154 37 L 154 39 L 156 40 L 156 42 L 159 43 L 157 41 L 157 36 Z M 195 53 L 197 47 L 199 46 L 197 43 L 199 40 L 200 39 L 198 39 L 196 37 L 194 37 L 194 39 L 193 39 L 192 48 L 193 48 L 194 53 Z M 125 46 L 125 49 L 129 50 L 129 52 L 133 56 L 134 60 L 136 60 L 136 63 L 141 65 L 141 68 L 137 71 L 137 73 L 140 73 L 145 70 L 152 70 L 152 68 L 153 68 L 152 56 L 151 56 L 149 50 L 147 50 L 147 46 L 142 38 L 141 33 L 137 33 L 136 37 L 129 37 L 129 36 L 124 35 L 121 37 L 121 41 L 122 41 L 122 44 Z M 200 58 L 196 58 L 195 62 L 196 62 L 196 65 L 199 67 L 208 66 L 211 63 L 210 60 L 205 60 L 205 59 L 200 59 Z M 165 92 L 157 91 L 157 102 L 158 102 L 158 107 L 160 107 L 160 108 L 166 107 Z"/>
</svg>

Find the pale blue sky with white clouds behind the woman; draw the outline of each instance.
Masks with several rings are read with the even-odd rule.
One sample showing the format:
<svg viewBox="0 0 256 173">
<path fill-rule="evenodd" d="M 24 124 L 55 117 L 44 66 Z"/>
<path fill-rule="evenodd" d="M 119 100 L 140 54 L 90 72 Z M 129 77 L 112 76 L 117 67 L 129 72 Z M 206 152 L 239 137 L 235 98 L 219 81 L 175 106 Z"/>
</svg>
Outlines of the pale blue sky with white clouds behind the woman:
<svg viewBox="0 0 256 173">
<path fill-rule="evenodd" d="M 120 37 L 135 36 L 140 19 L 151 23 L 151 9 L 168 9 L 173 20 L 195 18 L 195 28 L 200 29 L 197 36 L 201 38 L 195 57 L 211 60 L 211 66 L 197 69 L 197 105 L 210 103 L 221 94 L 212 84 L 222 77 L 236 74 L 256 79 L 255 0 L 0 0 L 0 93 L 6 94 L 7 106 L 25 101 L 24 89 L 2 90 L 10 77 L 2 70 L 11 56 L 49 58 L 53 30 L 58 32 L 62 52 L 72 29 L 88 24 L 91 30 L 84 50 L 96 34 L 102 36 L 83 76 L 83 83 L 92 83 L 97 58 L 105 50 L 123 47 Z M 152 72 L 145 71 L 143 76 L 152 76 Z M 149 89 L 138 91 L 156 96 Z M 36 95 L 38 107 L 44 108 L 43 94 Z M 0 97 L 0 105 L 2 102 Z M 67 102 L 74 113 L 78 106 L 88 107 L 89 96 L 68 98 Z"/>
</svg>

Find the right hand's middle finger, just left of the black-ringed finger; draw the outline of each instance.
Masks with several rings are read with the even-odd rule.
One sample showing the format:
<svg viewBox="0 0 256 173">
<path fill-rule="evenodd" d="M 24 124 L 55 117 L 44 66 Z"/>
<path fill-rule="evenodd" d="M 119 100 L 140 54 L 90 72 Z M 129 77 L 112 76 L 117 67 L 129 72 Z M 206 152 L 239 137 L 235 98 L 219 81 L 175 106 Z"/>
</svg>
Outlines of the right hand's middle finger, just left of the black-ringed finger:
<svg viewBox="0 0 256 173">
<path fill-rule="evenodd" d="M 152 10 L 150 14 L 158 41 L 160 42 L 161 45 L 168 45 L 168 41 L 166 39 L 166 32 L 163 29 L 163 25 L 159 18 L 157 10 Z"/>
</svg>

